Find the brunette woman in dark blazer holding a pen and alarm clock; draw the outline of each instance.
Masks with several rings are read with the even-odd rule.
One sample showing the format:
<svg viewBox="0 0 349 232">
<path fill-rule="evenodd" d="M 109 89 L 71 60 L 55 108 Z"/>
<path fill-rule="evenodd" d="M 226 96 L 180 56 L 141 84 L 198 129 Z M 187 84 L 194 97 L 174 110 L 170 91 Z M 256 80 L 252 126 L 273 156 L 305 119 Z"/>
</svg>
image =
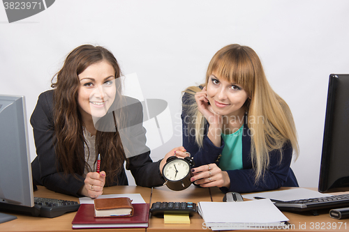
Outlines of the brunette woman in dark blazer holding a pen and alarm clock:
<svg viewBox="0 0 349 232">
<path fill-rule="evenodd" d="M 137 185 L 158 186 L 164 183 L 161 171 L 167 157 L 174 151 L 179 157 L 187 155 L 179 147 L 163 160 L 151 160 L 142 104 L 121 95 L 120 76 L 117 60 L 103 47 L 82 45 L 68 54 L 52 79 L 53 89 L 40 94 L 31 115 L 36 185 L 96 197 L 104 186 L 128 185 L 126 162 Z M 96 168 L 98 154 L 101 172 Z"/>
</svg>

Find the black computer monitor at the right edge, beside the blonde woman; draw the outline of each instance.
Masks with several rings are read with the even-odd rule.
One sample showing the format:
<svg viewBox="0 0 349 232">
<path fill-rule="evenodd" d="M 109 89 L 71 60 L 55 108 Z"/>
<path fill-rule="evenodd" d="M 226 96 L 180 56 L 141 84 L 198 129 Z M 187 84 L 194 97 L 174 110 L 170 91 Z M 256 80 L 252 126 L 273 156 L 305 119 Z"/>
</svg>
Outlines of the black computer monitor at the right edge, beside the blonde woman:
<svg viewBox="0 0 349 232">
<path fill-rule="evenodd" d="M 318 191 L 349 191 L 349 75 L 329 75 Z"/>
</svg>

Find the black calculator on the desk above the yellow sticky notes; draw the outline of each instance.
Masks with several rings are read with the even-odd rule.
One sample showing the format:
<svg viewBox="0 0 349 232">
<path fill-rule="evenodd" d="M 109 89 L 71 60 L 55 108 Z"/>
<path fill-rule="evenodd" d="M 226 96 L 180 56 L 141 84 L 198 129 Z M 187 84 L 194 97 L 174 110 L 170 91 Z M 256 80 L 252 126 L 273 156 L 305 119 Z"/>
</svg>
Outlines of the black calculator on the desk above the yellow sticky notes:
<svg viewBox="0 0 349 232">
<path fill-rule="evenodd" d="M 193 216 L 197 212 L 193 202 L 156 202 L 151 205 L 149 211 L 156 217 L 163 217 L 164 213 L 188 213 L 189 216 Z"/>
</svg>

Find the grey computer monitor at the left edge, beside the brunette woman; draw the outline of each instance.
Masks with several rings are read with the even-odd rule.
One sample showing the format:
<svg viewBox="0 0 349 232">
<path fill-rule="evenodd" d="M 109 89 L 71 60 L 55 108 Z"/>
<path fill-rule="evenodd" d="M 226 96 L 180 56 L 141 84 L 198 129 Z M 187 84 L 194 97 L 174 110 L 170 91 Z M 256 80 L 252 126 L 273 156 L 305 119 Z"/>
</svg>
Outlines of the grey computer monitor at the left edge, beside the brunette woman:
<svg viewBox="0 0 349 232">
<path fill-rule="evenodd" d="M 0 95 L 0 211 L 34 206 L 24 96 Z"/>
</svg>

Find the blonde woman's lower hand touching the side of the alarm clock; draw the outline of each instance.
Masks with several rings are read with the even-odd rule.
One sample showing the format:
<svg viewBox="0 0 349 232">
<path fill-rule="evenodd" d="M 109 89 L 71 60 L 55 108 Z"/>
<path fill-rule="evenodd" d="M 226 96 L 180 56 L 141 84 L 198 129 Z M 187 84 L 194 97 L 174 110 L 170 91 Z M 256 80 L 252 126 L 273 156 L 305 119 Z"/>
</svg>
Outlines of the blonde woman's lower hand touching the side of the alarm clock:
<svg viewBox="0 0 349 232">
<path fill-rule="evenodd" d="M 216 164 L 205 164 L 192 169 L 191 182 L 201 187 L 230 187 L 230 178 L 226 171 L 222 171 Z"/>
</svg>

